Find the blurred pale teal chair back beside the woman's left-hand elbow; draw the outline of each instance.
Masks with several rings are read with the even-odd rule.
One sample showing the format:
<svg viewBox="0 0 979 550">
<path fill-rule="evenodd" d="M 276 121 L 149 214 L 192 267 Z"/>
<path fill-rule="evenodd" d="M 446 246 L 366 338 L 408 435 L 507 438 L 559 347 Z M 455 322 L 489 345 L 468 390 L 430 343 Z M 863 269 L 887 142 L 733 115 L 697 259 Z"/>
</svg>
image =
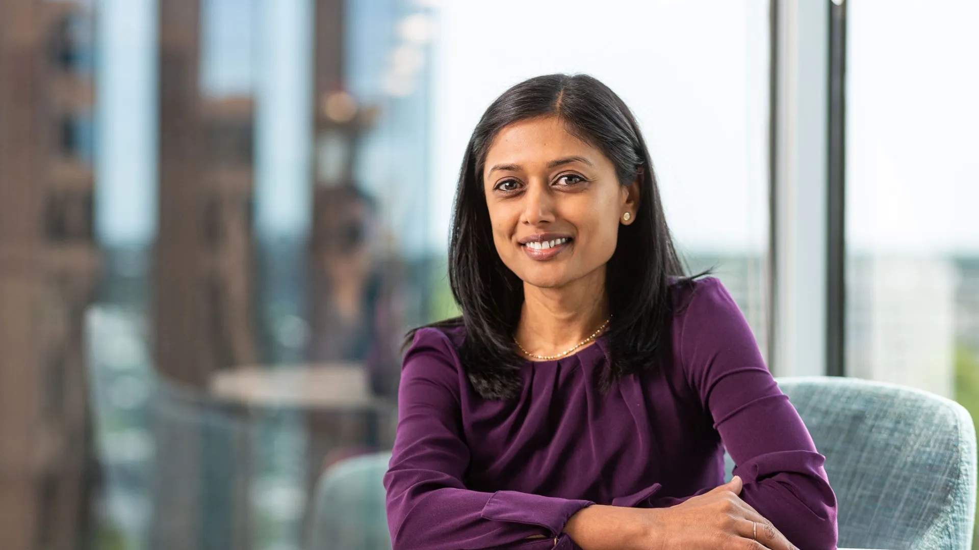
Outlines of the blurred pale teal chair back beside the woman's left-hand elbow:
<svg viewBox="0 0 979 550">
<path fill-rule="evenodd" d="M 316 484 L 309 550 L 390 550 L 382 480 L 391 452 L 355 456 L 327 468 Z"/>
</svg>

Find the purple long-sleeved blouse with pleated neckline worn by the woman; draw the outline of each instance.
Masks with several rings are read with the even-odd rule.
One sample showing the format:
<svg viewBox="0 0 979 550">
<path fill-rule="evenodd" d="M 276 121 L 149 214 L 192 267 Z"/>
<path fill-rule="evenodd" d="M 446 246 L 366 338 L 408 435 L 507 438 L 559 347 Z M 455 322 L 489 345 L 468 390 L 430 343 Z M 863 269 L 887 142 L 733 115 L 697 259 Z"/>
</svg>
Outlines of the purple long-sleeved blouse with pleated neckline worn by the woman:
<svg viewBox="0 0 979 550">
<path fill-rule="evenodd" d="M 678 287 L 676 287 L 678 289 Z M 604 337 L 527 361 L 513 400 L 470 386 L 463 330 L 422 329 L 401 367 L 394 454 L 384 477 L 395 550 L 577 549 L 562 533 L 585 506 L 660 508 L 723 484 L 801 550 L 836 547 L 825 457 L 775 385 L 737 304 L 697 281 L 673 323 L 675 362 L 602 394 Z M 543 534 L 549 538 L 527 537 Z"/>
</svg>

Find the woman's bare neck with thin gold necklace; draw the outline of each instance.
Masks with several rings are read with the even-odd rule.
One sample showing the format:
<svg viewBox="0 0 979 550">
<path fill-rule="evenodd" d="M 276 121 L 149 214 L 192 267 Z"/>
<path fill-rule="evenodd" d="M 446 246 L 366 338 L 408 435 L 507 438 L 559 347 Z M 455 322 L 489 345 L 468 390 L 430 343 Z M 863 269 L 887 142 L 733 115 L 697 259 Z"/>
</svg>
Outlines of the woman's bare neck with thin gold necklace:
<svg viewBox="0 0 979 550">
<path fill-rule="evenodd" d="M 598 271 L 558 289 L 524 283 L 517 342 L 536 355 L 554 355 L 594 334 L 609 317 L 605 273 Z"/>
</svg>

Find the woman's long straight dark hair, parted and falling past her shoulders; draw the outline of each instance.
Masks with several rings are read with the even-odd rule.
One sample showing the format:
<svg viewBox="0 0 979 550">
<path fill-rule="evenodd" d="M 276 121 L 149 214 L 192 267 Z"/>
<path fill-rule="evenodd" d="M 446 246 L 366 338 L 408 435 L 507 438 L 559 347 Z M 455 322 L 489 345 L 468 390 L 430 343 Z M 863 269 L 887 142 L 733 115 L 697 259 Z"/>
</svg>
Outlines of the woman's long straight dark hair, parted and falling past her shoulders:
<svg viewBox="0 0 979 550">
<path fill-rule="evenodd" d="M 462 315 L 426 325 L 465 328 L 460 359 L 473 388 L 488 399 L 519 395 L 518 370 L 526 358 L 513 342 L 524 301 L 523 281 L 493 245 L 483 169 L 501 129 L 544 116 L 558 117 L 568 132 L 601 151 L 615 165 L 622 185 L 640 176 L 635 221 L 619 225 L 616 250 L 606 265 L 605 289 L 613 317 L 604 335 L 610 362 L 598 383 L 601 390 L 669 360 L 675 314 L 671 286 L 692 287 L 698 277 L 711 272 L 685 275 L 663 215 L 646 143 L 635 117 L 615 92 L 586 74 L 547 74 L 516 84 L 480 118 L 459 172 L 448 279 Z M 406 345 L 417 330 L 408 333 Z"/>
</svg>

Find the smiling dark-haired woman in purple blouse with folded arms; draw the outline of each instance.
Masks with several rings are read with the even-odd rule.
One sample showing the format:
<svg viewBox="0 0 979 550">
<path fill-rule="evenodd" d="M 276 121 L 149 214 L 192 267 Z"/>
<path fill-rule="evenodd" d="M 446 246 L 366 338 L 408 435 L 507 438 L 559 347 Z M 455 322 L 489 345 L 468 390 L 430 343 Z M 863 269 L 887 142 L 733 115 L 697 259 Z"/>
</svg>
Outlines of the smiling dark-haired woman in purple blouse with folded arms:
<svg viewBox="0 0 979 550">
<path fill-rule="evenodd" d="M 448 269 L 462 316 L 401 368 L 395 550 L 835 547 L 824 457 L 721 283 L 683 276 L 608 87 L 539 76 L 489 106 Z"/>
</svg>

